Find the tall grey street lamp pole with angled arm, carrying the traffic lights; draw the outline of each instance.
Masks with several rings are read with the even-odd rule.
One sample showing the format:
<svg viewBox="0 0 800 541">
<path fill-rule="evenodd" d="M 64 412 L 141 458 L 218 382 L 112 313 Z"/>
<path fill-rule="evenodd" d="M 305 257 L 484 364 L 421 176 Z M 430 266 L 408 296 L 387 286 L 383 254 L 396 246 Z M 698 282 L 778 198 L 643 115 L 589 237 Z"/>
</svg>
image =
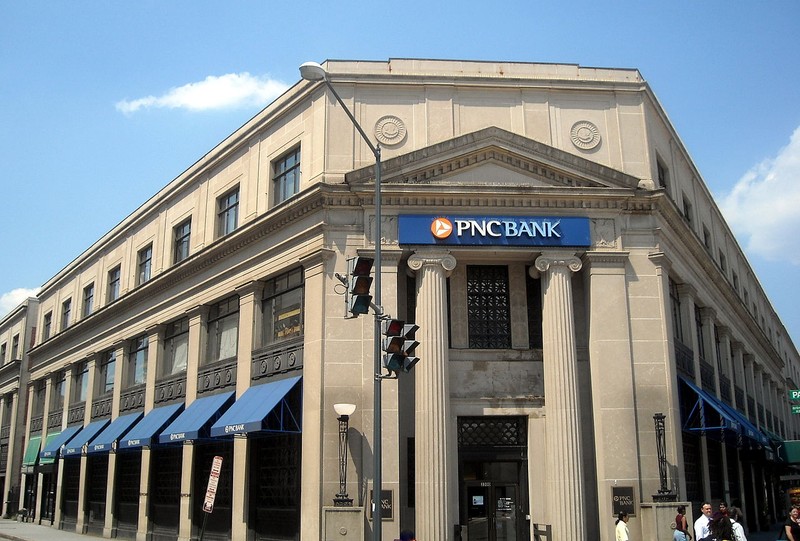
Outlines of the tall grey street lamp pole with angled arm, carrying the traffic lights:
<svg viewBox="0 0 800 541">
<path fill-rule="evenodd" d="M 306 81 L 322 81 L 328 90 L 331 91 L 333 97 L 341 105 L 344 112 L 347 113 L 347 118 L 353 123 L 361 138 L 367 143 L 367 146 L 375 155 L 375 296 L 374 296 L 374 333 L 373 333 L 373 436 L 372 436 L 372 455 L 374 459 L 373 465 L 373 481 L 372 481 L 372 539 L 373 541 L 381 541 L 381 487 L 383 486 L 383 478 L 381 475 L 381 317 L 383 316 L 383 307 L 381 306 L 381 147 L 380 144 L 373 145 L 369 140 L 367 134 L 361 128 L 361 125 L 356 121 L 353 113 L 347 108 L 347 105 L 342 101 L 339 93 L 333 88 L 330 82 L 328 73 L 325 68 L 316 62 L 305 62 L 300 66 L 300 76 Z"/>
</svg>

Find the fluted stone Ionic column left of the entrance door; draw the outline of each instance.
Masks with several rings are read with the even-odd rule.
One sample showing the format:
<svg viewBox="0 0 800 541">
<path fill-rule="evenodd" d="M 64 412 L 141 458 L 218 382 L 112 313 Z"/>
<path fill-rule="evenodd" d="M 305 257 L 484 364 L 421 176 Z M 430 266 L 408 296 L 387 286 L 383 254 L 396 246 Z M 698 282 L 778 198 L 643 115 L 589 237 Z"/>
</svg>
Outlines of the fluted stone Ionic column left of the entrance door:
<svg viewBox="0 0 800 541">
<path fill-rule="evenodd" d="M 417 274 L 415 372 L 415 494 L 417 538 L 447 541 L 457 522 L 456 449 L 450 419 L 447 276 L 456 267 L 447 251 L 418 251 L 408 260 Z"/>
</svg>

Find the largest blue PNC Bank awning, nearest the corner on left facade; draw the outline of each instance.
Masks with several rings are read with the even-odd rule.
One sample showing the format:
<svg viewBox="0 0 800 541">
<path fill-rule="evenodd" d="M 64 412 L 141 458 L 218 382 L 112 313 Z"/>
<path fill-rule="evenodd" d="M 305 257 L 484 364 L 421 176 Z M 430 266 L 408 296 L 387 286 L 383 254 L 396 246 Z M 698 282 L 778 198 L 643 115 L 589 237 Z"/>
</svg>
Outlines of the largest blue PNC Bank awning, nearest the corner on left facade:
<svg viewBox="0 0 800 541">
<path fill-rule="evenodd" d="M 246 434 L 262 430 L 300 432 L 300 412 L 284 400 L 301 376 L 250 387 L 211 427 L 211 436 Z"/>
</svg>

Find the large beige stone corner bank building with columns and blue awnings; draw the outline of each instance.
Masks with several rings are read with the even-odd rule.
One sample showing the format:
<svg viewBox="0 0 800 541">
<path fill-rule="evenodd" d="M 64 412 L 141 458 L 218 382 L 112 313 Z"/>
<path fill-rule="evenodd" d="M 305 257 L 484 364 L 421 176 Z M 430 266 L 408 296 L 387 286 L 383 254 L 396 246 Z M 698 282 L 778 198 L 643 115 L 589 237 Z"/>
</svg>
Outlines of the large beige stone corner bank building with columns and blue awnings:
<svg viewBox="0 0 800 541">
<path fill-rule="evenodd" d="M 5 512 L 130 539 L 341 520 L 336 538 L 371 538 L 374 319 L 336 275 L 378 237 L 381 306 L 420 343 L 381 383 L 383 541 L 605 541 L 620 509 L 671 539 L 674 501 L 703 499 L 774 518 L 800 359 L 641 74 L 324 67 L 380 145 L 380 223 L 373 152 L 301 80 L 2 321 Z"/>
</svg>

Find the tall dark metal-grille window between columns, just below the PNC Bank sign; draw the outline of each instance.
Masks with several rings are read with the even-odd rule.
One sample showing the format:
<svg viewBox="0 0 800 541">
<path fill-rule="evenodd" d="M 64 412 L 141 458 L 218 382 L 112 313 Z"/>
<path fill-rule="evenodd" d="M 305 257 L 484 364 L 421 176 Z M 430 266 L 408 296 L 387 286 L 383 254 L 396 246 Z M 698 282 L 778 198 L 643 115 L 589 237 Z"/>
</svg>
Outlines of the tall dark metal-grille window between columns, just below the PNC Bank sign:
<svg viewBox="0 0 800 541">
<path fill-rule="evenodd" d="M 467 321 L 470 348 L 511 347 L 508 267 L 467 266 Z"/>
</svg>

